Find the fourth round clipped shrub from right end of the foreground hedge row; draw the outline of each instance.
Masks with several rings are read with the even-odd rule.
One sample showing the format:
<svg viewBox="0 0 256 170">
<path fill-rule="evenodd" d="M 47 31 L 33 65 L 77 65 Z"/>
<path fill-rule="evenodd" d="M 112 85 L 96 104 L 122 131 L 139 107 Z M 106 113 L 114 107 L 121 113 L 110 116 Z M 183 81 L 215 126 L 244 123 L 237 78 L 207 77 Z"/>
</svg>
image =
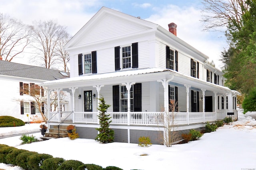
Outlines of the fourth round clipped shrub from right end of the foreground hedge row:
<svg viewBox="0 0 256 170">
<path fill-rule="evenodd" d="M 43 161 L 41 169 L 56 170 L 64 161 L 65 160 L 63 158 L 48 158 Z"/>
</svg>

